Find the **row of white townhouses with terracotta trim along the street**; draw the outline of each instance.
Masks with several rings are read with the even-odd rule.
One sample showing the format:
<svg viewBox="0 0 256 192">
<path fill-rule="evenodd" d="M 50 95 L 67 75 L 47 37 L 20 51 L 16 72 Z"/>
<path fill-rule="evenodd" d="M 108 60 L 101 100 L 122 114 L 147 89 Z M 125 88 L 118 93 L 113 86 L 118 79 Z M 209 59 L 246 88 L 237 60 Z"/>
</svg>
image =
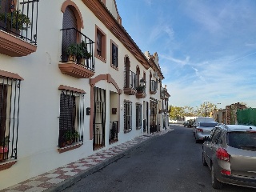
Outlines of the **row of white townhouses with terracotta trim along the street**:
<svg viewBox="0 0 256 192">
<path fill-rule="evenodd" d="M 0 4 L 0 190 L 166 129 L 158 54 L 114 0 Z"/>
</svg>

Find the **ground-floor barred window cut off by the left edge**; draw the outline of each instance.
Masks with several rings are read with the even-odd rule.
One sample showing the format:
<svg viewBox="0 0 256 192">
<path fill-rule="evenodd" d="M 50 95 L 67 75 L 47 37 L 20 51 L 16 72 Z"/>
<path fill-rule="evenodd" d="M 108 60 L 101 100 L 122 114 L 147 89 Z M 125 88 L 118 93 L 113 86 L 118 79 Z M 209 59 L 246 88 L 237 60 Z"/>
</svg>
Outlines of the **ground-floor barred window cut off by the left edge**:
<svg viewBox="0 0 256 192">
<path fill-rule="evenodd" d="M 17 159 L 19 102 L 20 80 L 0 78 L 0 162 Z"/>
</svg>

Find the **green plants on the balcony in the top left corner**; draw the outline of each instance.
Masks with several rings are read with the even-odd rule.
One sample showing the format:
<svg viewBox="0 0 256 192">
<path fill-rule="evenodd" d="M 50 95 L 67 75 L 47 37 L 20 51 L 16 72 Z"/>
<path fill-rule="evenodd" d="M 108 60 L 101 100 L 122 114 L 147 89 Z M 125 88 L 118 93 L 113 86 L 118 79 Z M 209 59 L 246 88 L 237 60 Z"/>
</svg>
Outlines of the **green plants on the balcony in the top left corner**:
<svg viewBox="0 0 256 192">
<path fill-rule="evenodd" d="M 22 14 L 21 10 L 14 10 L 13 12 L 9 13 L 0 13 L 0 20 L 2 22 L 6 22 L 7 29 L 14 28 L 16 26 L 18 30 L 26 30 L 30 28 L 31 22 L 30 18 L 28 18 L 25 14 Z"/>
</svg>

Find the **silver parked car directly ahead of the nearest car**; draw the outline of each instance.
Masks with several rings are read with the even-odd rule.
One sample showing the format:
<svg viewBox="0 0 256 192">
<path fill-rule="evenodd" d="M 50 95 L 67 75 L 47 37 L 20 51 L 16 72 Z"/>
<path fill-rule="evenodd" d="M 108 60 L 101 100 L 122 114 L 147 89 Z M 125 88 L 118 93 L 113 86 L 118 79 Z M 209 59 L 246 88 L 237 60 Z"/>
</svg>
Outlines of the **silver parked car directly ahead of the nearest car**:
<svg viewBox="0 0 256 192">
<path fill-rule="evenodd" d="M 195 142 L 203 141 L 203 138 L 210 136 L 210 131 L 218 126 L 218 122 L 198 122 L 194 127 Z"/>
</svg>

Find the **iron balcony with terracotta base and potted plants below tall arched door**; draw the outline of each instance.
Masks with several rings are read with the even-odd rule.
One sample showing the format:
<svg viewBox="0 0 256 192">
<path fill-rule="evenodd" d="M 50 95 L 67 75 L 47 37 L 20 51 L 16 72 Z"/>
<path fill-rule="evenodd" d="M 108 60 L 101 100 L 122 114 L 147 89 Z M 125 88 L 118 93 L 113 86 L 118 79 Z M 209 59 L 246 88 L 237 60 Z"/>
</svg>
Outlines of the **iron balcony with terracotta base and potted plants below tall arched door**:
<svg viewBox="0 0 256 192">
<path fill-rule="evenodd" d="M 94 75 L 94 42 L 75 28 L 62 29 L 62 56 L 58 67 L 74 78 Z"/>
</svg>

